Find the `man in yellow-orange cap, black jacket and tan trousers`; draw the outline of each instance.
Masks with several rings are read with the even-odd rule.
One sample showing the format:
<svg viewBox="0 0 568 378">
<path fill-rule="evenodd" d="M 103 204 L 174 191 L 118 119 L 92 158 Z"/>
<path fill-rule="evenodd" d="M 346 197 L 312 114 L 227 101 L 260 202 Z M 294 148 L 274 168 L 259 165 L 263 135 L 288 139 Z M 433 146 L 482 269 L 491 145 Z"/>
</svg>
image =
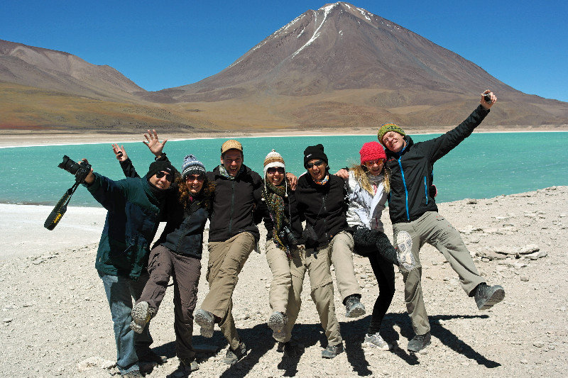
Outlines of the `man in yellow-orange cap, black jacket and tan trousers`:
<svg viewBox="0 0 568 378">
<path fill-rule="evenodd" d="M 207 179 L 216 186 L 207 246 L 209 293 L 195 311 L 202 336 L 212 337 L 214 324 L 219 324 L 229 342 L 224 358 L 228 365 L 246 355 L 231 313 L 232 295 L 239 273 L 260 238 L 256 225 L 262 220 L 261 206 L 266 206 L 261 201 L 263 181 L 243 160 L 241 143 L 227 140 L 221 147 L 221 165 L 207 172 Z"/>
</svg>

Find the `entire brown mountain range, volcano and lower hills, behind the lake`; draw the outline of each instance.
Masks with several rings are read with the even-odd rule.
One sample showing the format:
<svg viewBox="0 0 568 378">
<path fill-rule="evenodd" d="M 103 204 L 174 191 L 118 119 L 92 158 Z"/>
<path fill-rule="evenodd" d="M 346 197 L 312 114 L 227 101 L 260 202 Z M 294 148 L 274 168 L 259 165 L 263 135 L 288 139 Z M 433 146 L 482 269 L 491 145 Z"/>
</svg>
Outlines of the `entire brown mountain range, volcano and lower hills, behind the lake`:
<svg viewBox="0 0 568 378">
<path fill-rule="evenodd" d="M 568 128 L 568 103 L 528 95 L 473 62 L 348 3 L 309 10 L 218 74 L 148 92 L 107 65 L 0 40 L 0 128 L 368 130 L 452 126 L 492 89 L 481 128 Z"/>
</svg>

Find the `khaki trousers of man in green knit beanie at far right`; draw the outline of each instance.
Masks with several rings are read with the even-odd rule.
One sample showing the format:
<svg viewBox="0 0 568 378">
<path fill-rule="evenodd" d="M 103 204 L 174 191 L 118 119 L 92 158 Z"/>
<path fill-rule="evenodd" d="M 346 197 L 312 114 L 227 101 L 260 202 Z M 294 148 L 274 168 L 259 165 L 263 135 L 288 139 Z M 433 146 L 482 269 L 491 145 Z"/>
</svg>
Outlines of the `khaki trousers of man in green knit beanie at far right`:
<svg viewBox="0 0 568 378">
<path fill-rule="evenodd" d="M 459 232 L 439 213 L 428 211 L 416 221 L 393 224 L 394 244 L 398 248 L 400 272 L 405 283 L 404 294 L 408 315 L 414 332 L 423 335 L 430 332 L 430 323 L 422 297 L 422 265 L 420 248 L 428 243 L 442 252 L 449 265 L 459 276 L 461 288 L 466 294 L 485 279 L 479 275 L 474 260 L 461 240 Z"/>
</svg>

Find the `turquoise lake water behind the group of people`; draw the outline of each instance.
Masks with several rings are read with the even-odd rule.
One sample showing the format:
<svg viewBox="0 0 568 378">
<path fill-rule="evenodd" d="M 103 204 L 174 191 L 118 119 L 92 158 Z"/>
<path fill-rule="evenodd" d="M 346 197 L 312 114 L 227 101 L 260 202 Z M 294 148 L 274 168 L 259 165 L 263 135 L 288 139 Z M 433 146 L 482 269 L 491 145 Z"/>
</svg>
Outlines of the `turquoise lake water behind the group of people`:
<svg viewBox="0 0 568 378">
<path fill-rule="evenodd" d="M 415 142 L 439 134 L 412 135 Z M 167 135 L 160 135 L 167 137 Z M 142 140 L 142 138 L 141 138 Z M 164 151 L 175 167 L 183 157 L 194 154 L 208 170 L 219 165 L 220 148 L 226 139 L 168 141 Z M 286 168 L 296 175 L 305 171 L 302 152 L 308 145 L 322 143 L 332 172 L 359 162 L 363 143 L 376 135 L 239 138 L 244 163 L 262 172 L 263 160 L 273 148 L 283 155 Z M 489 198 L 568 185 L 568 132 L 476 133 L 464 140 L 434 166 L 438 202 L 464 198 Z M 139 174 L 146 174 L 153 155 L 143 143 L 124 143 Z M 62 156 L 86 157 L 96 172 L 111 179 L 124 178 L 110 143 L 54 145 L 0 149 L 0 202 L 55 205 L 72 186 L 72 174 L 58 168 Z M 99 206 L 80 187 L 70 206 Z"/>
</svg>

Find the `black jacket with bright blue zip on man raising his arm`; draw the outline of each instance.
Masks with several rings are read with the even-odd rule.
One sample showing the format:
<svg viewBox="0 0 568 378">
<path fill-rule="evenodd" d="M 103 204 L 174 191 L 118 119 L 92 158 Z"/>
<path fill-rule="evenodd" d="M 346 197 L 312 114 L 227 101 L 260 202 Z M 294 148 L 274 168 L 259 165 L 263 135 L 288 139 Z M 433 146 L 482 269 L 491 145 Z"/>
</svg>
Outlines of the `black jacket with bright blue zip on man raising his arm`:
<svg viewBox="0 0 568 378">
<path fill-rule="evenodd" d="M 415 221 L 427 211 L 438 211 L 428 190 L 434 163 L 471 135 L 488 113 L 480 105 L 459 126 L 438 138 L 413 143 L 406 135 L 406 146 L 402 151 L 386 149 L 386 168 L 391 170 L 388 212 L 393 223 Z"/>
</svg>

